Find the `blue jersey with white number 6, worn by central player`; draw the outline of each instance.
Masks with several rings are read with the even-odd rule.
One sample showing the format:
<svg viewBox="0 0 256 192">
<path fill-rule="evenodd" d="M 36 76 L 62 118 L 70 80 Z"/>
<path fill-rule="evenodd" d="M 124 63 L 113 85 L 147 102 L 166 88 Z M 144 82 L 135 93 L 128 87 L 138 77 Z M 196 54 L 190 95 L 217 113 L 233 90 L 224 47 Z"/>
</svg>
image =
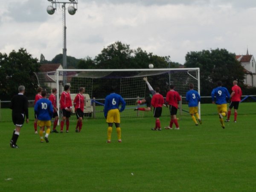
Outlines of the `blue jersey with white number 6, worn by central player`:
<svg viewBox="0 0 256 192">
<path fill-rule="evenodd" d="M 119 109 L 119 104 L 122 104 L 120 112 L 125 109 L 125 100 L 116 93 L 111 93 L 105 98 L 104 115 L 107 117 L 110 109 Z"/>
</svg>

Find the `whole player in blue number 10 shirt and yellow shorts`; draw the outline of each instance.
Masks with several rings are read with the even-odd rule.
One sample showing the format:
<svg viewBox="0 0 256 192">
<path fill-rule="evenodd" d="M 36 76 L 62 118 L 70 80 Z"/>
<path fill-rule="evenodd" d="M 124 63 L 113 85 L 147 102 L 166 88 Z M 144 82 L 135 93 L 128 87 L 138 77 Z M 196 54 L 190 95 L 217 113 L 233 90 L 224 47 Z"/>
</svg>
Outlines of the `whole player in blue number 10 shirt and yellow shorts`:
<svg viewBox="0 0 256 192">
<path fill-rule="evenodd" d="M 48 143 L 48 136 L 51 132 L 51 119 L 53 115 L 53 107 L 52 107 L 52 102 L 46 98 L 46 91 L 43 90 L 41 95 L 42 98 L 39 99 L 35 103 L 35 113 L 38 118 L 38 126 L 40 126 L 40 131 L 39 131 L 39 136 L 41 139 L 41 143 L 44 142 L 44 140 Z M 44 126 L 47 127 L 45 137 L 43 139 L 43 132 L 44 132 Z"/>
</svg>

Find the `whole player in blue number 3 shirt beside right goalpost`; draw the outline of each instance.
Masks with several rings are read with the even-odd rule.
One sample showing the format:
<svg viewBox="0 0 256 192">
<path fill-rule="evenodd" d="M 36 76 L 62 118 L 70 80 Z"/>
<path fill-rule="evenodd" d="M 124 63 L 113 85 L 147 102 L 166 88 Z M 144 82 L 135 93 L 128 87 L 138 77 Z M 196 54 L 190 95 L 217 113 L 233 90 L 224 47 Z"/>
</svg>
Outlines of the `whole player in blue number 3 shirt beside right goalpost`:
<svg viewBox="0 0 256 192">
<path fill-rule="evenodd" d="M 197 117 L 199 123 L 202 124 L 198 114 L 198 103 L 201 101 L 201 97 L 198 92 L 194 90 L 193 83 L 189 84 L 189 89 L 190 90 L 186 93 L 186 101 L 189 102 L 189 114 L 191 115 L 192 120 L 195 122 L 195 125 L 198 126 L 195 116 Z"/>
</svg>

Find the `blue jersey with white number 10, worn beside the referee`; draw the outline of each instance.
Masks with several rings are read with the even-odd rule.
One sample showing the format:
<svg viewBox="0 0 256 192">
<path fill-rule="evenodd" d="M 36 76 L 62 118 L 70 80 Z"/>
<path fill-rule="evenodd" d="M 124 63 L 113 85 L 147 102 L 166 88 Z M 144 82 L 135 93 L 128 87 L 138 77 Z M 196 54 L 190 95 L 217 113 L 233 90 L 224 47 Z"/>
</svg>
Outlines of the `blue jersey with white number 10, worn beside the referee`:
<svg viewBox="0 0 256 192">
<path fill-rule="evenodd" d="M 34 106 L 38 120 L 51 120 L 53 114 L 52 102 L 49 99 L 39 99 Z"/>
</svg>

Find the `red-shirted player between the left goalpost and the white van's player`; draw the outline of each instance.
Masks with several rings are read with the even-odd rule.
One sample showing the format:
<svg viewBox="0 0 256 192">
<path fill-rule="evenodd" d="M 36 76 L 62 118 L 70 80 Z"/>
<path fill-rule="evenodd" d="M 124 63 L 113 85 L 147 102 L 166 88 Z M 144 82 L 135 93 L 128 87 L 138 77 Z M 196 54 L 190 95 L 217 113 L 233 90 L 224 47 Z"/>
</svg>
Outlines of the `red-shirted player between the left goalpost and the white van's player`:
<svg viewBox="0 0 256 192">
<path fill-rule="evenodd" d="M 70 86 L 65 85 L 64 86 L 64 92 L 61 93 L 61 114 L 62 114 L 62 119 L 61 119 L 61 133 L 63 133 L 63 127 L 64 127 L 64 122 L 66 121 L 66 133 L 68 133 L 69 129 L 69 117 L 72 112 L 72 101 L 70 97 Z"/>
</svg>

